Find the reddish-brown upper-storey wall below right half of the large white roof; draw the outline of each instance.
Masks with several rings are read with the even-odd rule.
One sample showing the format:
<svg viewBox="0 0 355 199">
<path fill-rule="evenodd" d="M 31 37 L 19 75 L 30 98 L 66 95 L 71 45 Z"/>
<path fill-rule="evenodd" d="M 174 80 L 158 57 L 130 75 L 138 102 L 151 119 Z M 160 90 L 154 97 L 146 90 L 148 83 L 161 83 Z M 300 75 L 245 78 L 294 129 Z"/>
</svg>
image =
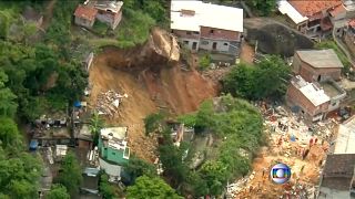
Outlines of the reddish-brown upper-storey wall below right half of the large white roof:
<svg viewBox="0 0 355 199">
<path fill-rule="evenodd" d="M 201 36 L 215 40 L 240 41 L 240 32 L 210 27 L 201 27 Z"/>
</svg>

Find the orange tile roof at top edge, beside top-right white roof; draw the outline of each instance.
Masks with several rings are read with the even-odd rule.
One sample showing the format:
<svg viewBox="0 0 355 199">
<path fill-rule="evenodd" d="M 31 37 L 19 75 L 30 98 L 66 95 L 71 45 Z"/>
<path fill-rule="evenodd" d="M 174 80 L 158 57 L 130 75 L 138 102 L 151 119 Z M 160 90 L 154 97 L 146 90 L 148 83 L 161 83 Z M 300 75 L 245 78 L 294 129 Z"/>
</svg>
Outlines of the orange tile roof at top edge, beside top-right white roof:
<svg viewBox="0 0 355 199">
<path fill-rule="evenodd" d="M 311 17 L 317 12 L 323 10 L 327 10 L 331 8 L 335 8 L 342 4 L 342 0 L 288 0 L 290 4 L 292 4 L 302 15 Z"/>
</svg>

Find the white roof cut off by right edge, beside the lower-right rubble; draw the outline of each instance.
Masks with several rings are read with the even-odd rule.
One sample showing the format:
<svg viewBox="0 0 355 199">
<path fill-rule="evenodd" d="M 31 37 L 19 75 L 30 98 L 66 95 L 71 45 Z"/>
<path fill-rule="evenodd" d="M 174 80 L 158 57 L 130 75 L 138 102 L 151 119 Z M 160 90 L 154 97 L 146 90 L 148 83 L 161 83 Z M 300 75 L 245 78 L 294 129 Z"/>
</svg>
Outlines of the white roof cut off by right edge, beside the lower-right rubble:
<svg viewBox="0 0 355 199">
<path fill-rule="evenodd" d="M 355 117 L 339 125 L 334 154 L 355 154 Z"/>
</svg>

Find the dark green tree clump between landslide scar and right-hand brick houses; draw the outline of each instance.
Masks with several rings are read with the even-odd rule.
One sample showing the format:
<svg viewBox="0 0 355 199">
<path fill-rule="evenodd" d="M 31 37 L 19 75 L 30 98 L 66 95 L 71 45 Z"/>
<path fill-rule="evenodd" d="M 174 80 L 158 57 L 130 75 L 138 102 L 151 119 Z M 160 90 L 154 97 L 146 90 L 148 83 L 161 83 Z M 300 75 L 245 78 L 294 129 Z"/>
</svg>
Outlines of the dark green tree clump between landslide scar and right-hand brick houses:
<svg viewBox="0 0 355 199">
<path fill-rule="evenodd" d="M 224 91 L 250 100 L 283 96 L 291 69 L 275 55 L 268 55 L 255 66 L 240 64 L 223 80 Z"/>
</svg>

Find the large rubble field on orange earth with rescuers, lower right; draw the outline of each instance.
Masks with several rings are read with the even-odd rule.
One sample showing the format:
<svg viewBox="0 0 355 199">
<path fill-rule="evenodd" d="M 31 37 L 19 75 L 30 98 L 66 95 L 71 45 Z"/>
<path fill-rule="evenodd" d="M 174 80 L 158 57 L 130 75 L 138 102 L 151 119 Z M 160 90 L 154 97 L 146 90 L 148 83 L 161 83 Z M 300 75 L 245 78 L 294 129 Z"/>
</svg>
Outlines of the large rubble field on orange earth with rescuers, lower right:
<svg viewBox="0 0 355 199">
<path fill-rule="evenodd" d="M 226 187 L 229 198 L 313 198 L 337 122 L 307 124 L 282 105 L 264 102 L 254 105 L 263 114 L 270 145 L 254 160 L 248 177 Z M 290 181 L 283 186 L 275 186 L 270 179 L 270 169 L 277 163 L 292 170 Z"/>
</svg>

